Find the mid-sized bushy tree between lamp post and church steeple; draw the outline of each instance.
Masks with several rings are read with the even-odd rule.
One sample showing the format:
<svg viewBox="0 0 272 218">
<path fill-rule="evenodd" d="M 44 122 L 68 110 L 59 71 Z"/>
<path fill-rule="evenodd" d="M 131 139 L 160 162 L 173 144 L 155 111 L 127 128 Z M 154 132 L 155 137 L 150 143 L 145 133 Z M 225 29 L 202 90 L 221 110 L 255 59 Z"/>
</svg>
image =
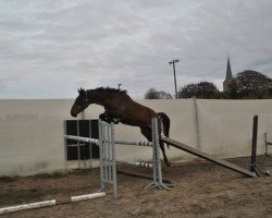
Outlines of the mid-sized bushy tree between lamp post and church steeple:
<svg viewBox="0 0 272 218">
<path fill-rule="evenodd" d="M 205 98 L 205 99 L 212 99 L 219 98 L 219 89 L 213 83 L 210 82 L 200 82 L 197 84 L 188 84 L 184 87 L 180 88 L 177 93 L 178 98 Z"/>
</svg>

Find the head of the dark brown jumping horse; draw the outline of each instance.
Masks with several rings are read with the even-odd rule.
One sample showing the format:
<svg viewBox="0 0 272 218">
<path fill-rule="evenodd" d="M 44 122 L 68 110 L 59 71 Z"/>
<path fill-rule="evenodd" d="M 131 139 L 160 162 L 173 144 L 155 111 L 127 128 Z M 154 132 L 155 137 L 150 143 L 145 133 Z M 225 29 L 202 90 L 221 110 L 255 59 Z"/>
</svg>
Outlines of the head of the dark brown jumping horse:
<svg viewBox="0 0 272 218">
<path fill-rule="evenodd" d="M 83 88 L 79 88 L 77 90 L 79 95 L 75 99 L 75 102 L 71 109 L 71 116 L 74 118 L 89 106 L 87 92 L 84 90 Z"/>
</svg>

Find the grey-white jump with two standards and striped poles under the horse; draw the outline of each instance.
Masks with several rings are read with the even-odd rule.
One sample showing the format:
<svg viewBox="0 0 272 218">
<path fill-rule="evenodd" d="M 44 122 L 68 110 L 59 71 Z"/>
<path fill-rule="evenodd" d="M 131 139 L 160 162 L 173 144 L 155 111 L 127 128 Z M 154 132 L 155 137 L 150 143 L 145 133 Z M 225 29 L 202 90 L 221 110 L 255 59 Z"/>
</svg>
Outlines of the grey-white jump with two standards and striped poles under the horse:
<svg viewBox="0 0 272 218">
<path fill-rule="evenodd" d="M 104 192 L 106 184 L 111 184 L 113 187 L 113 197 L 118 196 L 118 182 L 116 182 L 116 162 L 145 167 L 152 169 L 152 183 L 146 186 L 151 187 L 164 187 L 173 186 L 172 184 L 164 183 L 161 173 L 160 161 L 160 145 L 158 133 L 158 121 L 152 118 L 152 142 L 128 142 L 128 141 L 115 141 L 114 140 L 114 124 L 107 123 L 99 120 L 99 140 L 81 137 L 74 135 L 64 135 L 65 138 L 82 141 L 87 143 L 94 143 L 99 145 L 100 149 L 100 179 L 101 179 L 101 192 Z M 132 146 L 151 146 L 152 147 L 152 164 L 133 162 L 128 160 L 115 160 L 115 145 L 132 145 Z"/>
</svg>

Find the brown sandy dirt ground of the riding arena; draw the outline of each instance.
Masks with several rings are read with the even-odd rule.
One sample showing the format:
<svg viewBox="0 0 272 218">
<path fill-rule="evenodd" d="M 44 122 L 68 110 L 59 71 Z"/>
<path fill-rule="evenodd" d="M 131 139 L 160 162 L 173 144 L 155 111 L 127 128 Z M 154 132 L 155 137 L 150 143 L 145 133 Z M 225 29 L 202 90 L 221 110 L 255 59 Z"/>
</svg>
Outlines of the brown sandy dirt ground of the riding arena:
<svg viewBox="0 0 272 218">
<path fill-rule="evenodd" d="M 230 159 L 248 168 L 249 158 Z M 272 157 L 258 157 L 261 169 L 272 172 Z M 136 172 L 146 169 L 121 168 Z M 53 207 L 25 210 L 1 218 L 269 218 L 272 217 L 272 177 L 245 178 L 237 172 L 195 160 L 163 167 L 163 177 L 175 187 L 145 190 L 148 180 L 119 175 L 119 197 L 106 197 Z M 81 195 L 99 187 L 99 170 L 77 170 L 65 173 L 25 178 L 0 178 L 0 207 Z"/>
</svg>

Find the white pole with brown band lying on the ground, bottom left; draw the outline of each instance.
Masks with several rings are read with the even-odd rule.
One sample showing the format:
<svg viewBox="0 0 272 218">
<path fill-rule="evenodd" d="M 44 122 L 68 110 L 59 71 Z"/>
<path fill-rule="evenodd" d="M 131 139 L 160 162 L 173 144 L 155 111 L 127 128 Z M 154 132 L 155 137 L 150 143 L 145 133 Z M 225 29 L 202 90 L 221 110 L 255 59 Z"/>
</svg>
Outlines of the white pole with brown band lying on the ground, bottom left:
<svg viewBox="0 0 272 218">
<path fill-rule="evenodd" d="M 36 209 L 36 208 L 42 208 L 42 207 L 49 207 L 49 206 L 55 206 L 55 205 L 63 205 L 69 204 L 72 202 L 79 202 L 85 199 L 94 199 L 98 197 L 106 196 L 106 192 L 98 192 L 92 194 L 85 194 L 85 195 L 78 195 L 78 196 L 72 196 L 72 197 L 60 197 L 57 199 L 49 199 L 44 202 L 36 202 L 30 204 L 23 204 L 23 205 L 16 205 L 16 206 L 10 206 L 10 207 L 2 207 L 0 208 L 0 215 L 26 210 L 26 209 Z"/>
</svg>

